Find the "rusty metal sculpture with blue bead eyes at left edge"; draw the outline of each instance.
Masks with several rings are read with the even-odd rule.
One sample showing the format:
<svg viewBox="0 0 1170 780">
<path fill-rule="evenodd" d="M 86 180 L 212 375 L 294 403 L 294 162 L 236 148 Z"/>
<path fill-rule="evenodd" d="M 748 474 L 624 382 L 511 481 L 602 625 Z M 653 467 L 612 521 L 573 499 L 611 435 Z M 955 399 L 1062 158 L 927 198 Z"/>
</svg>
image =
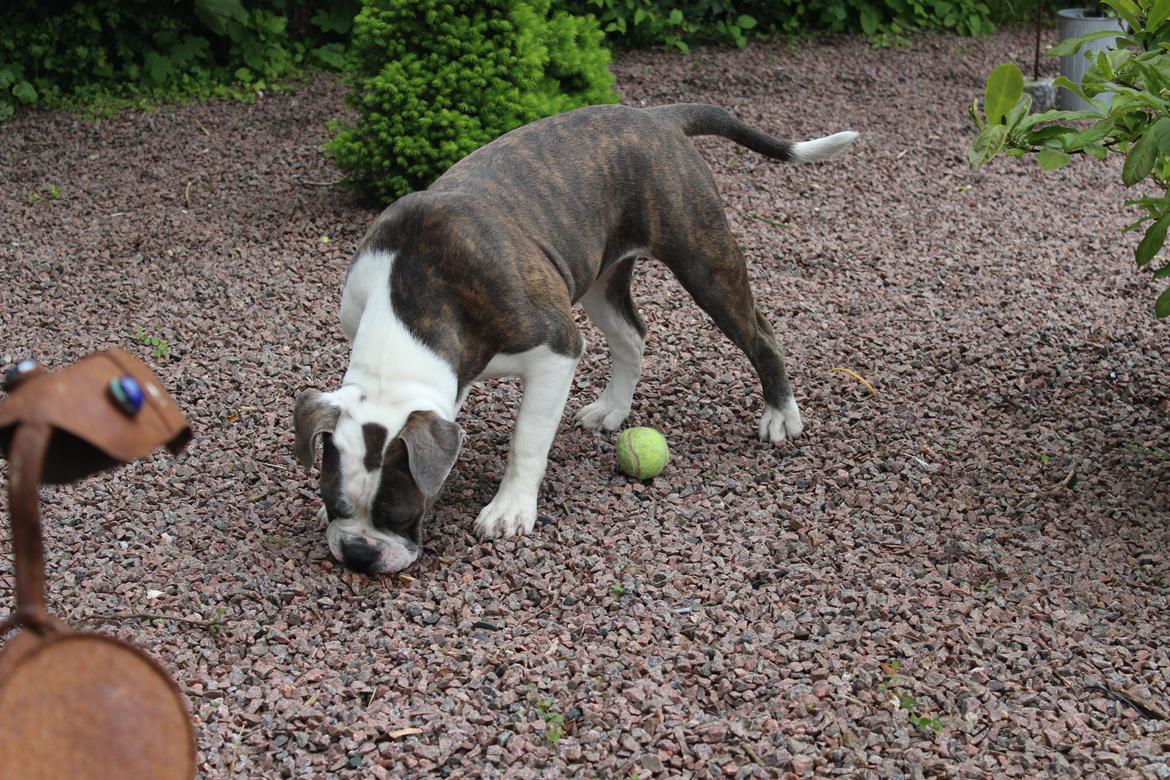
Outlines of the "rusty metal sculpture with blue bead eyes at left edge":
<svg viewBox="0 0 1170 780">
<path fill-rule="evenodd" d="M 57 372 L 25 361 L 0 403 L 8 460 L 16 609 L 0 637 L 0 778 L 192 778 L 195 740 L 178 686 L 137 648 L 74 631 L 44 605 L 37 498 L 166 444 L 191 428 L 140 360 L 122 350 Z"/>
</svg>

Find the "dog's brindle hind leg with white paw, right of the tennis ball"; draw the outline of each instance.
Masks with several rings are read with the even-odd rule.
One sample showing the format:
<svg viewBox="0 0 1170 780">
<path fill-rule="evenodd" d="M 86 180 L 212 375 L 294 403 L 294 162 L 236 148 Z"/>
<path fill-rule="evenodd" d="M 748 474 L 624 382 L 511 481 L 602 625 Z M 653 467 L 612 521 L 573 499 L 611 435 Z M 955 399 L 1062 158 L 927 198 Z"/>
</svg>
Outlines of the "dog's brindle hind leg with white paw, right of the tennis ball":
<svg viewBox="0 0 1170 780">
<path fill-rule="evenodd" d="M 659 258 L 756 368 L 764 389 L 759 439 L 765 442 L 794 439 L 804 430 L 804 423 L 784 371 L 776 333 L 756 310 L 743 254 L 722 209 L 717 218 L 710 216 L 701 233 L 681 234 L 701 236 L 697 241 L 659 248 Z"/>
</svg>

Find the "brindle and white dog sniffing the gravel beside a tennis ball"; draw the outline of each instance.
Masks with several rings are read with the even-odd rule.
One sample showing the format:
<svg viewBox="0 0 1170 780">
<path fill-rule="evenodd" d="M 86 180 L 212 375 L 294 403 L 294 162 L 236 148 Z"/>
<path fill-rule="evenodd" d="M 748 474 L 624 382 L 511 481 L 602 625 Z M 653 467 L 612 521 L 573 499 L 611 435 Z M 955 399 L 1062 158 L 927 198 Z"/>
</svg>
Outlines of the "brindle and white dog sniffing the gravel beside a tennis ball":
<svg viewBox="0 0 1170 780">
<path fill-rule="evenodd" d="M 519 377 L 524 389 L 503 481 L 475 530 L 531 531 L 584 350 L 573 304 L 605 333 L 613 360 L 578 422 L 615 430 L 629 413 L 646 334 L 629 295 L 639 257 L 665 263 L 746 353 L 763 384 L 759 437 L 800 435 L 772 327 L 753 303 L 715 179 L 687 140 L 710 134 L 798 163 L 856 137 L 779 140 L 711 105 L 592 106 L 500 137 L 378 216 L 342 295 L 353 344 L 342 386 L 296 399 L 301 463 L 312 467 L 318 437 L 324 446 L 333 557 L 371 573 L 419 557 L 422 517 L 463 440 L 455 416 L 472 384 L 491 377 Z"/>
</svg>

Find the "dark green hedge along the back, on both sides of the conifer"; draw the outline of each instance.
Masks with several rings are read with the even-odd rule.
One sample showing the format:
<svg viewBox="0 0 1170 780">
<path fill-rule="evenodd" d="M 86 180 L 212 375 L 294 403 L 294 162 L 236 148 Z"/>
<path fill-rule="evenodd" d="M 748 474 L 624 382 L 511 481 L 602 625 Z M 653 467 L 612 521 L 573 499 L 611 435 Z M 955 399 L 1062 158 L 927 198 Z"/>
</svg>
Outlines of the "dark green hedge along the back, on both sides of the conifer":
<svg viewBox="0 0 1170 780">
<path fill-rule="evenodd" d="M 614 46 L 744 46 L 753 36 L 914 29 L 982 34 L 1038 0 L 552 0 Z M 19 105 L 249 95 L 340 69 L 360 0 L 4 0 L 0 122 Z M 455 4 L 452 7 L 470 7 Z M 497 7 L 497 6 L 491 6 Z M 563 48 L 563 47 L 562 47 Z M 111 101 L 115 101 L 111 103 Z"/>
</svg>

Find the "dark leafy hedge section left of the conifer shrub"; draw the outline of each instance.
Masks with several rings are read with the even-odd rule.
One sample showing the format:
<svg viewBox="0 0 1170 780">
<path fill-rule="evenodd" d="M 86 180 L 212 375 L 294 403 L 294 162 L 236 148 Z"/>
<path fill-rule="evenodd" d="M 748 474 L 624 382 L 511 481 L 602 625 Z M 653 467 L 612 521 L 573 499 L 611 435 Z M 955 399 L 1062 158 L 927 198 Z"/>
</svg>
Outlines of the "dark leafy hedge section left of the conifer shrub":
<svg viewBox="0 0 1170 780">
<path fill-rule="evenodd" d="M 339 69 L 358 0 L 6 0 L 0 120 L 16 105 L 255 90 Z"/>
</svg>

